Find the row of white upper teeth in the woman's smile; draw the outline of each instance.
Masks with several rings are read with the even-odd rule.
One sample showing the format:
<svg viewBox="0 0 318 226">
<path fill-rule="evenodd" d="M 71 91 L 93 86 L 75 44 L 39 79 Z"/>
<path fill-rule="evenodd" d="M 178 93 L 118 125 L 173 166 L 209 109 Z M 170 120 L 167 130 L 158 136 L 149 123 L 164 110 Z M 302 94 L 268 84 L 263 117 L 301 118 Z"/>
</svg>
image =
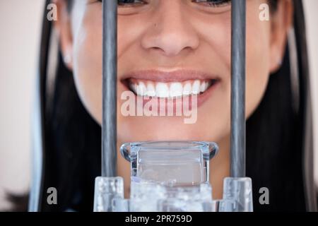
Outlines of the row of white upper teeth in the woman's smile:
<svg viewBox="0 0 318 226">
<path fill-rule="evenodd" d="M 136 95 L 148 97 L 173 98 L 184 95 L 198 95 L 204 93 L 211 85 L 211 81 L 185 81 L 182 83 L 155 83 L 153 81 L 138 81 L 129 83 Z"/>
</svg>

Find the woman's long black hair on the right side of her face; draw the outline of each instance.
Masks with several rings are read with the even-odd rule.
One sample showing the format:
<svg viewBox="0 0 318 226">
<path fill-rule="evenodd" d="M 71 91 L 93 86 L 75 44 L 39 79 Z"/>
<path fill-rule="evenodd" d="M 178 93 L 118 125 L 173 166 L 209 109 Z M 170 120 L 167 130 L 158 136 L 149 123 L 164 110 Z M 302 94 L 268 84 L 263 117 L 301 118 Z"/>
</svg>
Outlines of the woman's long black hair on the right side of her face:
<svg viewBox="0 0 318 226">
<path fill-rule="evenodd" d="M 247 120 L 247 175 L 256 210 L 314 210 L 312 115 L 302 1 L 294 3 L 281 69 L 270 76 L 256 112 Z M 261 206 L 259 189 L 270 191 Z"/>
</svg>

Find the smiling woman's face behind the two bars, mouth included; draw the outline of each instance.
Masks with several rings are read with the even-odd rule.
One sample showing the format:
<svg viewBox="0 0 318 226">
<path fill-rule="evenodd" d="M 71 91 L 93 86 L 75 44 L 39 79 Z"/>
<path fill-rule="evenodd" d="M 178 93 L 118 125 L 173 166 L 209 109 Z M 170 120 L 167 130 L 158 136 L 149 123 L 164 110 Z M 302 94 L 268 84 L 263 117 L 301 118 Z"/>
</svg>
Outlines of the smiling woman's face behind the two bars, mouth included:
<svg viewBox="0 0 318 226">
<path fill-rule="evenodd" d="M 221 142 L 228 138 L 230 1 L 119 2 L 122 2 L 118 8 L 117 51 L 119 142 Z M 66 64 L 73 71 L 86 109 L 101 122 L 102 3 L 76 0 L 71 14 L 66 11 L 65 1 L 57 3 L 61 6 L 57 28 Z M 262 21 L 264 8 L 260 6 L 266 3 L 266 0 L 247 0 L 246 117 L 259 105 L 270 73 L 279 66 L 290 23 L 288 10 L 284 8 L 290 6 L 290 1 L 278 1 L 276 13 L 271 12 L 269 21 Z M 145 103 L 134 106 L 135 111 L 130 112 L 133 115 L 126 116 L 127 99 L 121 97 L 129 94 L 127 91 L 133 94 L 130 100 L 143 95 L 152 96 L 152 100 L 157 97 L 180 100 L 190 94 L 197 97 L 198 104 L 194 109 L 195 101 L 192 102 L 192 116 L 187 117 L 145 116 L 145 112 L 143 116 L 134 115 L 138 109 L 144 109 Z M 193 120 L 185 123 L 185 118 Z"/>
</svg>

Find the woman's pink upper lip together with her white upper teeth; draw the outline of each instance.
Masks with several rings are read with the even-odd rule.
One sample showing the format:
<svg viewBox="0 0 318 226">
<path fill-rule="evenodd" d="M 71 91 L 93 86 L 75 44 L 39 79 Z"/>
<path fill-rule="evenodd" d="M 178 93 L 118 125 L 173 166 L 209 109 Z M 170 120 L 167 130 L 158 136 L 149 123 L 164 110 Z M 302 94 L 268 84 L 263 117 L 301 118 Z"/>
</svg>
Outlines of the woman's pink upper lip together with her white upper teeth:
<svg viewBox="0 0 318 226">
<path fill-rule="evenodd" d="M 197 71 L 139 71 L 124 76 L 124 84 L 139 97 L 175 99 L 204 95 L 220 81 Z"/>
</svg>

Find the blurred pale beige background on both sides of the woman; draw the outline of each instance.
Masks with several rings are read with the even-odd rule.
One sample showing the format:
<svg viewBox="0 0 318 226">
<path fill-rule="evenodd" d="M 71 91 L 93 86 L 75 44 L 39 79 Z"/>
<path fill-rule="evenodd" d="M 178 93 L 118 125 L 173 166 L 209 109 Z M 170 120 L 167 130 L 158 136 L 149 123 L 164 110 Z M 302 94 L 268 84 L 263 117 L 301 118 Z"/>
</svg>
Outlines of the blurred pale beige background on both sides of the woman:
<svg viewBox="0 0 318 226">
<path fill-rule="evenodd" d="M 312 75 L 314 115 L 318 116 L 318 1 L 304 0 Z M 0 0 L 0 210 L 6 191 L 22 193 L 30 184 L 30 119 L 44 0 Z M 318 150 L 318 119 L 314 119 Z M 318 151 L 315 154 L 318 184 Z"/>
</svg>

